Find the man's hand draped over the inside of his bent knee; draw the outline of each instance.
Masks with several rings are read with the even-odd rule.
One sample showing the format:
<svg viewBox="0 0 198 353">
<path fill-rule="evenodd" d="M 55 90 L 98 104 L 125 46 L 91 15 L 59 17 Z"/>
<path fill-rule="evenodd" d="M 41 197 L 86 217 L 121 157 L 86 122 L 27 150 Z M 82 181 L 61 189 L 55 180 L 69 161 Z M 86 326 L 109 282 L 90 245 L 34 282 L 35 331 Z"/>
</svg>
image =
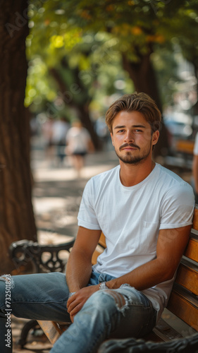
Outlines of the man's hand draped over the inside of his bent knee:
<svg viewBox="0 0 198 353">
<path fill-rule="evenodd" d="M 73 317 L 82 309 L 87 299 L 89 299 L 94 292 L 97 292 L 97 290 L 99 290 L 99 285 L 85 287 L 75 292 L 75 294 L 68 299 L 67 309 L 72 323 Z"/>
</svg>

